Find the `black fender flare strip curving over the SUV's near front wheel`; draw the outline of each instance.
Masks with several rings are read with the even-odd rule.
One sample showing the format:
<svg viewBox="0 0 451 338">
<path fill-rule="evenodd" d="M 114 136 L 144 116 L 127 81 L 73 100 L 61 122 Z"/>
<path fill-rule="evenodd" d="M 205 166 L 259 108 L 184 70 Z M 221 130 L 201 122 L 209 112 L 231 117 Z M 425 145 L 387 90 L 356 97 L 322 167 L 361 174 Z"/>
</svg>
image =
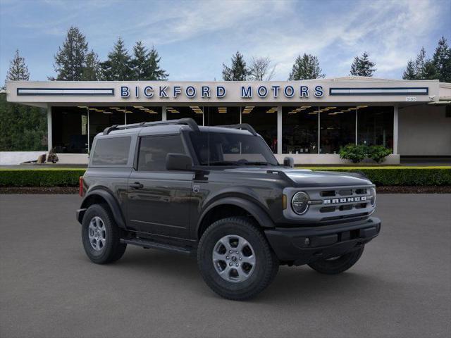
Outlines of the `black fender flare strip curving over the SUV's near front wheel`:
<svg viewBox="0 0 451 338">
<path fill-rule="evenodd" d="M 212 204 L 210 204 L 208 207 L 205 208 L 205 210 L 202 212 L 201 216 L 199 217 L 199 220 L 197 222 L 196 232 L 199 232 L 199 227 L 202 224 L 202 221 L 205 218 L 205 215 L 211 211 L 211 209 L 215 208 L 216 206 L 221 206 L 223 204 L 232 204 L 233 206 L 239 206 L 240 208 L 245 209 L 252 217 L 257 220 L 259 225 L 261 227 L 274 227 L 273 220 L 269 217 L 268 213 L 264 211 L 261 206 L 259 206 L 257 203 L 253 201 L 249 201 L 248 199 L 244 199 L 242 197 L 223 197 L 221 199 L 218 199 L 217 201 L 214 201 Z"/>
</svg>

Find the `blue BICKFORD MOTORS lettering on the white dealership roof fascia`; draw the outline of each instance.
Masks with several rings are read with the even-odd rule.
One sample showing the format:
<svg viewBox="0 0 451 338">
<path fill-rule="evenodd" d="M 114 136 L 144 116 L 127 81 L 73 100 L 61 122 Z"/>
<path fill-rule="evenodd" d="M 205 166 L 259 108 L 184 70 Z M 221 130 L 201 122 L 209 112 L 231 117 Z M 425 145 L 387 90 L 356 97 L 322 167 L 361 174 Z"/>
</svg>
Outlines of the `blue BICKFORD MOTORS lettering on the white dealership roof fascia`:
<svg viewBox="0 0 451 338">
<path fill-rule="evenodd" d="M 284 96 L 288 99 L 292 97 L 299 98 L 309 98 L 310 95 L 316 98 L 322 97 L 324 90 L 322 86 L 315 86 L 314 88 L 309 88 L 308 86 L 300 85 L 295 86 L 287 84 L 284 86 L 280 85 L 260 85 L 258 87 L 253 87 L 249 85 L 240 86 L 240 97 L 242 99 L 252 99 L 254 96 L 258 96 L 260 99 L 265 99 L 266 97 L 271 97 L 277 99 L 279 96 Z M 164 86 L 121 86 L 121 98 L 128 99 L 130 97 L 140 98 L 144 96 L 147 99 L 152 99 L 154 97 L 159 97 L 160 99 L 173 98 L 177 99 L 179 96 L 185 96 L 187 99 L 211 99 L 215 97 L 216 99 L 223 99 L 227 96 L 227 89 L 224 86 L 193 86 L 188 85 L 186 87 L 180 85 L 164 85 Z"/>
</svg>

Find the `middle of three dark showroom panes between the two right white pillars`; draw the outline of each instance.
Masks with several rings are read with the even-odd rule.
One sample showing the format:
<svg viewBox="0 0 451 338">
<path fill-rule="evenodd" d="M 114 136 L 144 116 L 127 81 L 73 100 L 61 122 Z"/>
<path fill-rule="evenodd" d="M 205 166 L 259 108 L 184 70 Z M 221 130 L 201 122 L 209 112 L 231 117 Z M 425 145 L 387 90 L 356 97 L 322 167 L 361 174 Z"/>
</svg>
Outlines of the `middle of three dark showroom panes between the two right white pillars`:
<svg viewBox="0 0 451 338">
<path fill-rule="evenodd" d="M 320 107 L 320 154 L 338 154 L 340 146 L 355 144 L 356 107 Z"/>
</svg>

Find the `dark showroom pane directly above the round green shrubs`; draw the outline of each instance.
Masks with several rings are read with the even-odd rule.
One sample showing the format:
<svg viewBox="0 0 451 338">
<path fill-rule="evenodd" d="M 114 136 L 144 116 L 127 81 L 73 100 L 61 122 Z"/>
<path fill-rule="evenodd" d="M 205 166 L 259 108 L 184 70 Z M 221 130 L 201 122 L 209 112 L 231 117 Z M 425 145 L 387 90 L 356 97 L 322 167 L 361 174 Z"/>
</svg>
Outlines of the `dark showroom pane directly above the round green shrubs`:
<svg viewBox="0 0 451 338">
<path fill-rule="evenodd" d="M 357 142 L 393 149 L 393 107 L 357 107 Z"/>
</svg>

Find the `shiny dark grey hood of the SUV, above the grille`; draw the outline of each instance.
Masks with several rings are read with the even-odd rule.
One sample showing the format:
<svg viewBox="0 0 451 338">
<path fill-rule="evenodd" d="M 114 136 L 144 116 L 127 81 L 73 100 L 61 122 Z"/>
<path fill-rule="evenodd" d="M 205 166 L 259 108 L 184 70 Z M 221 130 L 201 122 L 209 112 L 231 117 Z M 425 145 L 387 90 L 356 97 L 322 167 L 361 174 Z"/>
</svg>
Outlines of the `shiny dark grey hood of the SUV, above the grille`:
<svg viewBox="0 0 451 338">
<path fill-rule="evenodd" d="M 239 167 L 225 171 L 239 173 L 253 173 L 268 178 L 268 175 L 279 175 L 280 178 L 290 180 L 293 187 L 345 187 L 355 185 L 369 185 L 371 181 L 361 173 L 344 173 L 336 171 L 314 171 L 309 169 L 292 169 L 283 167 Z"/>
</svg>

